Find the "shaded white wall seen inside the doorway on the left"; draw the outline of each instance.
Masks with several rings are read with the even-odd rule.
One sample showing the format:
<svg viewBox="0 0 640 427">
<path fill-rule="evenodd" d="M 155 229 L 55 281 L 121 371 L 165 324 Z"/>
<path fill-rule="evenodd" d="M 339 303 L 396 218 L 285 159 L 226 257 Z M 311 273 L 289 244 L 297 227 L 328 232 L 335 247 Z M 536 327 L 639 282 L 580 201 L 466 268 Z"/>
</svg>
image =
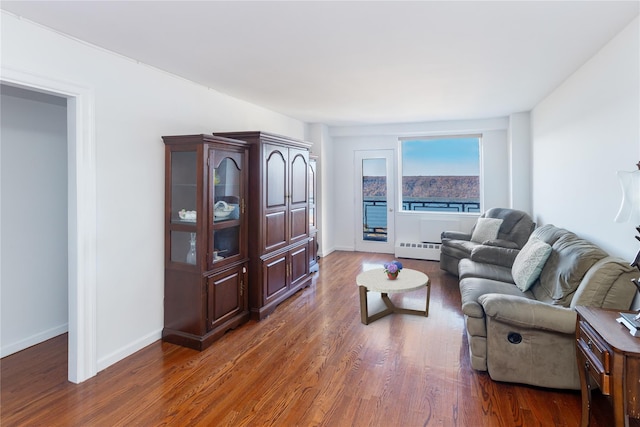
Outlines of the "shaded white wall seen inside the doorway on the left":
<svg viewBox="0 0 640 427">
<path fill-rule="evenodd" d="M 67 331 L 67 106 L 2 86 L 1 357 Z"/>
</svg>

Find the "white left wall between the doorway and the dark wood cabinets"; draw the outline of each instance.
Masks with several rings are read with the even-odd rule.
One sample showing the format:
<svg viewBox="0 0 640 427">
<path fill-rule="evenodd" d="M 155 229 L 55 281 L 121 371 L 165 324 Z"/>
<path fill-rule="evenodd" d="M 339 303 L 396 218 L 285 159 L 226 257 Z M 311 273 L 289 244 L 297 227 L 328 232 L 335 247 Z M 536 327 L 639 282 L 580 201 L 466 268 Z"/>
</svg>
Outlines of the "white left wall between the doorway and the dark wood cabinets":
<svg viewBox="0 0 640 427">
<path fill-rule="evenodd" d="M 98 370 L 163 326 L 162 135 L 306 125 L 2 12 L 2 67 L 86 87 L 95 101 Z M 4 255 L 4 254 L 3 254 Z"/>
</svg>

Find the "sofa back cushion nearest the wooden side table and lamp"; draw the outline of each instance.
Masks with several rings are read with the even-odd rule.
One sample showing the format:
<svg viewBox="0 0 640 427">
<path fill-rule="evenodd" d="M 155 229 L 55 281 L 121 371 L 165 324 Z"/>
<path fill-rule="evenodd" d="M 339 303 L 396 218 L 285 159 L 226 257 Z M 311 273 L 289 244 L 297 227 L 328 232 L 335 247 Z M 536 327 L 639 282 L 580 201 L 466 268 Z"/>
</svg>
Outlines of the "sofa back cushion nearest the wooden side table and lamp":
<svg viewBox="0 0 640 427">
<path fill-rule="evenodd" d="M 602 258 L 582 279 L 571 300 L 571 307 L 586 305 L 627 310 L 636 293 L 636 287 L 631 283 L 636 274 L 636 270 L 623 259 Z"/>
</svg>

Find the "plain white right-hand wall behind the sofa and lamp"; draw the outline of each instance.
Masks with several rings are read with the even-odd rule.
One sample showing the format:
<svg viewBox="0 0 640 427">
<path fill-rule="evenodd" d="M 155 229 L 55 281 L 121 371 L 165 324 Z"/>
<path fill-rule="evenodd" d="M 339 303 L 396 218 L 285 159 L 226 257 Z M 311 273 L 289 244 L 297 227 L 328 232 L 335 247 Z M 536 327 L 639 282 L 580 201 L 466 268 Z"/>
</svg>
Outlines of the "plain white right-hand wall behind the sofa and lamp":
<svg viewBox="0 0 640 427">
<path fill-rule="evenodd" d="M 614 218 L 618 170 L 640 160 L 640 25 L 636 18 L 531 114 L 533 211 L 631 261 L 638 224 Z"/>
</svg>

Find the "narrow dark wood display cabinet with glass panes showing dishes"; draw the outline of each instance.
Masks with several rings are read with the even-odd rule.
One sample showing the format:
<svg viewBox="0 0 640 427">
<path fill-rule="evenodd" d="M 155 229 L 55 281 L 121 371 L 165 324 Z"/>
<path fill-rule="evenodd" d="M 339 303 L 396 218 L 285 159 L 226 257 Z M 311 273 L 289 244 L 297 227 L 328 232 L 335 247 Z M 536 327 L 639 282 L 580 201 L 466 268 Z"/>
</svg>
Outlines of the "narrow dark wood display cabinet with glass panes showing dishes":
<svg viewBox="0 0 640 427">
<path fill-rule="evenodd" d="M 202 350 L 249 319 L 249 146 L 211 135 L 165 143 L 165 341 Z"/>
</svg>

